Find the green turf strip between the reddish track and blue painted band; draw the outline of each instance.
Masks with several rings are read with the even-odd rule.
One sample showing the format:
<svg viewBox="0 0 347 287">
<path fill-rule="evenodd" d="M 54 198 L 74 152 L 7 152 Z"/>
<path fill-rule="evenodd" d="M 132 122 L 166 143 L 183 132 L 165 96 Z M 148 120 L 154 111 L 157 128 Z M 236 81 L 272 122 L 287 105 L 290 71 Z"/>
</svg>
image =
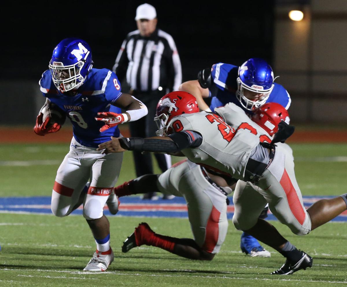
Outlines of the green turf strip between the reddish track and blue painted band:
<svg viewBox="0 0 347 287">
<path fill-rule="evenodd" d="M 338 195 L 347 186 L 347 144 L 292 144 L 295 173 L 303 195 Z M 0 197 L 51 195 L 68 143 L 1 144 Z M 182 158 L 174 157 L 172 162 Z M 154 160 L 155 163 L 155 160 Z M 155 172 L 159 168 L 155 165 Z M 131 152 L 126 152 L 118 183 L 133 179 Z"/>
</svg>

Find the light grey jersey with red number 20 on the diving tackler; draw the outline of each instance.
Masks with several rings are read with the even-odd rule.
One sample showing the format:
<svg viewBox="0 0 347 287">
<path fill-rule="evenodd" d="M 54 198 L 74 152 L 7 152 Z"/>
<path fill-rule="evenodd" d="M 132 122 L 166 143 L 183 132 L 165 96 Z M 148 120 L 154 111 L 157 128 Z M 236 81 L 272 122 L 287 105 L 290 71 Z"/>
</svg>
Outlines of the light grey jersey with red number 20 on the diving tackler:
<svg viewBox="0 0 347 287">
<path fill-rule="evenodd" d="M 175 132 L 195 131 L 202 136 L 197 148 L 183 149 L 192 162 L 243 179 L 245 167 L 259 137 L 245 129 L 235 129 L 223 119 L 204 111 L 175 116 L 168 124 Z"/>
</svg>

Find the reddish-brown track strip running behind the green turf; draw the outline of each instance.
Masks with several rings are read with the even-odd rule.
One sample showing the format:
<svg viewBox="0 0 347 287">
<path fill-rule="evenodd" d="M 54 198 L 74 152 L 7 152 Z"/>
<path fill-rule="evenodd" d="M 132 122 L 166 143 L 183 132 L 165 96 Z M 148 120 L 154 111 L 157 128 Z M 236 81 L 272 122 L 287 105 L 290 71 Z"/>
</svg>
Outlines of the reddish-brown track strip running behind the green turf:
<svg viewBox="0 0 347 287">
<path fill-rule="evenodd" d="M 127 126 L 119 125 L 123 136 L 129 137 Z M 46 136 L 37 136 L 31 128 L 8 128 L 0 127 L 0 143 L 58 143 L 70 142 L 72 138 L 72 128 L 64 127 L 59 132 Z M 287 141 L 290 143 L 326 143 L 341 142 L 347 143 L 347 131 L 295 131 Z"/>
</svg>

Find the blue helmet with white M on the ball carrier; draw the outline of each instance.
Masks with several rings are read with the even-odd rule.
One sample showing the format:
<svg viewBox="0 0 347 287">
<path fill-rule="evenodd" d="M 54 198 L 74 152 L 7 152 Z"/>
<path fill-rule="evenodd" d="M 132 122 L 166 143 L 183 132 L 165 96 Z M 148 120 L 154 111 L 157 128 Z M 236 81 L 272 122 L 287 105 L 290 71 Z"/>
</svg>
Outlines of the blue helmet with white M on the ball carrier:
<svg viewBox="0 0 347 287">
<path fill-rule="evenodd" d="M 78 89 L 93 67 L 90 46 L 78 38 L 66 38 L 53 50 L 49 62 L 54 85 L 65 93 Z"/>
</svg>

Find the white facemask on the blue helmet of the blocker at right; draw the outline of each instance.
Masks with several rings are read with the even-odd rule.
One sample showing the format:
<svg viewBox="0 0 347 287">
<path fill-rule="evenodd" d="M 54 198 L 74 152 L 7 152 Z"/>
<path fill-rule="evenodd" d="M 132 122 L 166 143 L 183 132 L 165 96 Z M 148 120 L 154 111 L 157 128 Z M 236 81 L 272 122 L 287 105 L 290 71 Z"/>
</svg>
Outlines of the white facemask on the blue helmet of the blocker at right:
<svg viewBox="0 0 347 287">
<path fill-rule="evenodd" d="M 252 85 L 252 87 L 249 87 L 240 79 L 240 77 L 238 77 L 237 78 L 236 97 L 239 100 L 239 102 L 241 103 L 241 105 L 246 110 L 254 111 L 259 106 L 265 104 L 265 102 L 269 98 L 273 88 L 274 88 L 274 84 L 272 84 L 269 89 L 264 89 L 264 87 L 256 86 L 256 85 Z M 257 100 L 248 99 L 244 95 L 244 89 L 246 89 L 246 90 L 248 90 L 250 92 L 253 92 L 253 93 L 261 94 L 261 96 Z"/>
</svg>

